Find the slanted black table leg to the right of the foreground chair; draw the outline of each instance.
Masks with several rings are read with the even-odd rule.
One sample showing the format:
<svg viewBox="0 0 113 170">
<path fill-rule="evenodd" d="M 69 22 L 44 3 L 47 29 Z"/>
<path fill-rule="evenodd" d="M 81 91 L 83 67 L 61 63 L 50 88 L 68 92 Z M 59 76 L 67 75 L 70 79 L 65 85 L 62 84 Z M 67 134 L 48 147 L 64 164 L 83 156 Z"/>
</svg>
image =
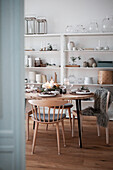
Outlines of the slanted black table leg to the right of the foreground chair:
<svg viewBox="0 0 113 170">
<path fill-rule="evenodd" d="M 76 110 L 77 110 L 77 119 L 78 119 L 78 130 L 79 130 L 79 143 L 80 148 L 82 148 L 82 138 L 81 138 L 81 127 L 80 127 L 80 115 L 79 115 L 79 107 L 80 107 L 81 101 L 76 99 Z"/>
</svg>

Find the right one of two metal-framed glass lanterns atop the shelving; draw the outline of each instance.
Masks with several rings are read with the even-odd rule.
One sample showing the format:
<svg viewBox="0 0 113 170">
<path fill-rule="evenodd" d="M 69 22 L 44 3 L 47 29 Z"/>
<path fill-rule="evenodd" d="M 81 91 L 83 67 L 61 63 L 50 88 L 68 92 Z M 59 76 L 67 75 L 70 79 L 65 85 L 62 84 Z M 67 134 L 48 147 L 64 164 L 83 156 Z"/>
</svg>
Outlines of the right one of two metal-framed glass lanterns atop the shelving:
<svg viewBox="0 0 113 170">
<path fill-rule="evenodd" d="M 47 34 L 47 20 L 45 17 L 37 18 L 37 34 Z"/>
</svg>

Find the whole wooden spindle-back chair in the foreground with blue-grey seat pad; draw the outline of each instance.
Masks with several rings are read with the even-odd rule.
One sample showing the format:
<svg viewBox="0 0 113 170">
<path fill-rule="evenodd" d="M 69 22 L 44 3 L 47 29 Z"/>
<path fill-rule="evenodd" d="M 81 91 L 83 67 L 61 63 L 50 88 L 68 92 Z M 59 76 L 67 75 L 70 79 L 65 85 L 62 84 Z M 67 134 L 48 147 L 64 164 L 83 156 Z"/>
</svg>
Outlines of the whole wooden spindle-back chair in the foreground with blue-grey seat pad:
<svg viewBox="0 0 113 170">
<path fill-rule="evenodd" d="M 57 145 L 58 145 L 58 155 L 60 155 L 60 136 L 59 136 L 59 123 L 62 124 L 62 135 L 64 147 L 65 144 L 65 135 L 64 135 L 64 118 L 66 115 L 64 114 L 64 104 L 67 101 L 63 100 L 29 100 L 28 101 L 32 106 L 32 119 L 35 121 L 35 130 L 32 144 L 32 154 L 34 153 L 35 144 L 36 144 L 36 135 L 38 131 L 39 124 L 56 124 L 56 132 L 57 132 Z M 61 107 L 62 106 L 62 107 Z M 53 108 L 52 108 L 53 107 Z M 59 108 L 57 108 L 59 107 Z M 45 109 L 48 109 L 46 113 Z"/>
</svg>

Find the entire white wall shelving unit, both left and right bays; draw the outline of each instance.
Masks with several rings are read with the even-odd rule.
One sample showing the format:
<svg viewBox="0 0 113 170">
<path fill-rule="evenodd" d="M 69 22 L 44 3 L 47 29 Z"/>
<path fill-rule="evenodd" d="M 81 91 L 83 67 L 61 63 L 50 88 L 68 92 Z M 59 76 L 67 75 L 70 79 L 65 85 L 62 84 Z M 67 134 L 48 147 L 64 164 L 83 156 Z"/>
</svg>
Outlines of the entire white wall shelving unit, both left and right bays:
<svg viewBox="0 0 113 170">
<path fill-rule="evenodd" d="M 75 41 L 79 43 L 81 47 L 93 47 L 98 46 L 98 40 L 101 40 L 103 45 L 107 42 L 107 45 L 110 46 L 109 50 L 67 50 L 67 43 L 69 41 Z M 51 44 L 57 44 L 57 51 L 40 51 L 40 42 L 46 41 Z M 92 46 L 91 46 L 92 45 Z M 68 78 L 70 74 L 74 76 L 83 77 L 90 76 L 97 77 L 99 70 L 113 70 L 113 67 L 82 67 L 82 62 L 88 60 L 91 57 L 94 57 L 96 60 L 113 60 L 113 33 L 62 33 L 62 34 L 34 34 L 34 35 L 25 35 L 25 49 L 34 48 L 35 51 L 25 51 L 26 55 L 31 55 L 31 57 L 40 57 L 44 61 L 58 62 L 56 66 L 47 66 L 47 67 L 26 67 L 26 72 L 36 71 L 39 73 L 46 73 L 47 75 L 53 76 L 53 72 L 58 74 L 58 82 L 63 84 L 64 78 Z M 80 63 L 81 67 L 65 67 L 67 58 L 70 56 L 80 55 L 82 61 Z M 59 67 L 59 65 L 61 67 Z M 85 74 L 86 73 L 86 74 Z M 50 79 L 50 76 L 49 76 Z M 30 83 L 29 83 L 30 84 Z M 34 83 L 36 84 L 36 83 Z M 82 84 L 74 83 L 74 86 L 82 86 Z M 85 86 L 89 87 L 112 87 L 112 84 L 88 84 Z"/>
</svg>

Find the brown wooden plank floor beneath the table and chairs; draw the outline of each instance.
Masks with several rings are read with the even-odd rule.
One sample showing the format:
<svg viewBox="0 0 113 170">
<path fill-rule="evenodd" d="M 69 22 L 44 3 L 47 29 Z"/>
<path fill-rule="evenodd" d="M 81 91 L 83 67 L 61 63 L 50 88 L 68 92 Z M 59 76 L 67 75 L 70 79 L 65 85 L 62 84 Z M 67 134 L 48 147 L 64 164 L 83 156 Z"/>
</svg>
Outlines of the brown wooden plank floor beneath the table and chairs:
<svg viewBox="0 0 113 170">
<path fill-rule="evenodd" d="M 61 155 L 57 155 L 55 126 L 40 125 L 37 135 L 35 154 L 31 155 L 33 138 L 30 121 L 30 140 L 26 142 L 26 170 L 113 170 L 113 121 L 110 121 L 110 145 L 105 144 L 105 130 L 97 136 L 94 118 L 83 121 L 83 148 L 78 146 L 78 128 L 76 120 L 75 137 L 71 137 L 69 120 L 65 120 L 66 148 L 63 147 L 60 129 Z"/>
</svg>

